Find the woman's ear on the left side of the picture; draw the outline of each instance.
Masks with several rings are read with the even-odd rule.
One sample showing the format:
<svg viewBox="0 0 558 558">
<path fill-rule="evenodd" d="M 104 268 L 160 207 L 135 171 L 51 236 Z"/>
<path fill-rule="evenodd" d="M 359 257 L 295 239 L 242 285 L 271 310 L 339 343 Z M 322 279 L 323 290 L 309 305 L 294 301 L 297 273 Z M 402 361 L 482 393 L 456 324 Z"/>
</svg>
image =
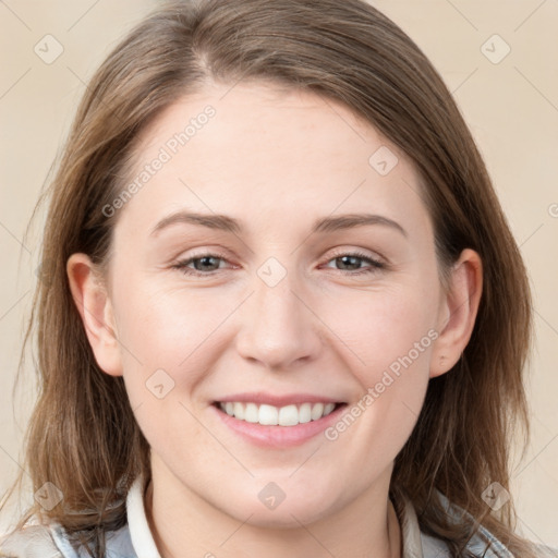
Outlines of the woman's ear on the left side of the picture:
<svg viewBox="0 0 558 558">
<path fill-rule="evenodd" d="M 72 254 L 68 258 L 66 274 L 97 364 L 111 376 L 122 376 L 112 304 L 95 265 L 86 254 Z"/>
</svg>

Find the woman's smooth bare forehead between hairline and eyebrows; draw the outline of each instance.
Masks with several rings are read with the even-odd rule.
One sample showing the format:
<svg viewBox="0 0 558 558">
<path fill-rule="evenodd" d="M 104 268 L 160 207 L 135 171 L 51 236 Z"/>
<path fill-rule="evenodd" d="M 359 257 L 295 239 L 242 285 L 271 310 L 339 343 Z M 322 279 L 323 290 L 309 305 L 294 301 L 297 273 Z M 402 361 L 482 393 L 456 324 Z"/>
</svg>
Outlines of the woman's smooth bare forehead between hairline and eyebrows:
<svg viewBox="0 0 558 558">
<path fill-rule="evenodd" d="M 372 124 L 265 84 L 214 84 L 167 107 L 140 137 L 134 180 L 124 213 L 144 221 L 179 208 L 263 222 L 369 210 L 428 226 L 412 163 Z"/>
</svg>

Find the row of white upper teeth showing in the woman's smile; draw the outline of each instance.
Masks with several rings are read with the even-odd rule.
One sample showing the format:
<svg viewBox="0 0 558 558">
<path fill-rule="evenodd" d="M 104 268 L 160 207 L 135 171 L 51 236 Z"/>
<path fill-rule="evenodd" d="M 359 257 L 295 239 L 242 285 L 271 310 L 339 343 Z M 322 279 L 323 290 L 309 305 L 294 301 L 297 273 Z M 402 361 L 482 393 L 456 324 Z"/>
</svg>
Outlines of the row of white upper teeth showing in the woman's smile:
<svg viewBox="0 0 558 558">
<path fill-rule="evenodd" d="M 240 401 L 219 403 L 228 415 L 248 423 L 263 425 L 296 426 L 327 416 L 335 409 L 335 403 L 302 403 L 287 407 L 242 403 Z"/>
</svg>

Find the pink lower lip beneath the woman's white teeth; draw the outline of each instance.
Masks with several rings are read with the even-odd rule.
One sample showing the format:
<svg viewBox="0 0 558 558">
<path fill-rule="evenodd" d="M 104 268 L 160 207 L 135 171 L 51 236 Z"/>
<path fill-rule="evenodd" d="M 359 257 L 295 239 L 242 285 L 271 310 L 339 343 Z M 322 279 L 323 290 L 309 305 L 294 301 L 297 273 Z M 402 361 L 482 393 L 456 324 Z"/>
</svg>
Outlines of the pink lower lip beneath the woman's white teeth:
<svg viewBox="0 0 558 558">
<path fill-rule="evenodd" d="M 241 435 L 252 444 L 266 448 L 286 448 L 300 446 L 324 432 L 328 426 L 339 420 L 347 404 L 339 405 L 331 413 L 317 421 L 296 424 L 295 426 L 268 426 L 259 423 L 248 423 L 247 421 L 241 421 L 227 414 L 215 404 L 211 405 L 211 408 L 231 430 Z"/>
</svg>

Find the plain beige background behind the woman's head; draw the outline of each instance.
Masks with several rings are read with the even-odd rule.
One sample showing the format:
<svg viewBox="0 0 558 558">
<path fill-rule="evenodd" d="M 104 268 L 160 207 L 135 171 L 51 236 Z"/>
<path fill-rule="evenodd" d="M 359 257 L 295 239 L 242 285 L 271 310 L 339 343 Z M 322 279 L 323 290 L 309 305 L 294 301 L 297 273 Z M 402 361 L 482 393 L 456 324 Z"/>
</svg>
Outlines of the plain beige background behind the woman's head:
<svg viewBox="0 0 558 558">
<path fill-rule="evenodd" d="M 29 362 L 13 412 L 12 385 L 36 281 L 43 215 L 25 241 L 24 230 L 87 80 L 119 37 L 155 4 L 147 0 L 0 3 L 0 495 L 20 466 L 35 392 Z M 515 469 L 513 492 L 519 530 L 558 546 L 558 2 L 374 0 L 373 4 L 418 44 L 454 94 L 530 270 L 537 337 L 529 385 L 533 438 Z M 51 64 L 34 52 L 47 34 L 63 46 Z M 505 43 L 488 40 L 495 34 Z M 506 44 L 509 54 L 493 63 L 505 53 Z"/>
</svg>

